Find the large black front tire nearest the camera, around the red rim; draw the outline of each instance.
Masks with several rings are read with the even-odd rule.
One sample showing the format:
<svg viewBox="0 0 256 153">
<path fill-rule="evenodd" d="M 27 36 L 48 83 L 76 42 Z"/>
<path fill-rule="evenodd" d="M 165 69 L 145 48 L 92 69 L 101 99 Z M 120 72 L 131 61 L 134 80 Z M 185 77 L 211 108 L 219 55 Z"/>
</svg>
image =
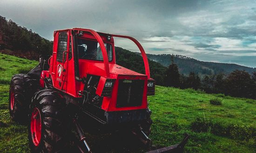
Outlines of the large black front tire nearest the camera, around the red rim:
<svg viewBox="0 0 256 153">
<path fill-rule="evenodd" d="M 40 140 L 36 145 L 32 137 L 32 113 L 35 109 L 40 112 Z M 69 149 L 69 121 L 65 98 L 53 89 L 43 89 L 37 93 L 30 105 L 28 125 L 29 147 L 32 153 L 62 153 Z M 36 133 L 34 133 L 35 135 Z"/>
</svg>

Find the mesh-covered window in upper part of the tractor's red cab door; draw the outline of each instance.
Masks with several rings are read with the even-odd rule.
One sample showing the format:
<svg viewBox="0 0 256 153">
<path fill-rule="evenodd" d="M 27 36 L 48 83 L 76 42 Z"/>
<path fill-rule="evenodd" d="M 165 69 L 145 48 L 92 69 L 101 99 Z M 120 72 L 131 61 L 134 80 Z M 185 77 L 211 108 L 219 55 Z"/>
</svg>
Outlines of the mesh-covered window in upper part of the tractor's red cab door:
<svg viewBox="0 0 256 153">
<path fill-rule="evenodd" d="M 57 61 L 62 62 L 63 52 L 67 51 L 67 32 L 59 32 L 59 42 L 57 51 Z M 64 56 L 66 61 L 66 56 Z"/>
</svg>

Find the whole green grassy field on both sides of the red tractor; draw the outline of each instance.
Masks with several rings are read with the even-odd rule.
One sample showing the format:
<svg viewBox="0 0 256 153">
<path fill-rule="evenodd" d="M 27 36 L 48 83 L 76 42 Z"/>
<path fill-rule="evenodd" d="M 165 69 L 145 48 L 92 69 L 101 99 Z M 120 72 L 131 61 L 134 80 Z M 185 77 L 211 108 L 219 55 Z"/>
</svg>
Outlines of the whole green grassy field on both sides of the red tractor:
<svg viewBox="0 0 256 153">
<path fill-rule="evenodd" d="M 36 64 L 0 54 L 0 152 L 28 152 L 27 127 L 9 118 L 8 91 L 13 74 Z M 216 98 L 221 105 L 210 104 Z M 178 143 L 188 133 L 185 152 L 256 152 L 256 100 L 157 86 L 148 101 L 154 121 L 150 137 L 157 147 Z"/>
</svg>

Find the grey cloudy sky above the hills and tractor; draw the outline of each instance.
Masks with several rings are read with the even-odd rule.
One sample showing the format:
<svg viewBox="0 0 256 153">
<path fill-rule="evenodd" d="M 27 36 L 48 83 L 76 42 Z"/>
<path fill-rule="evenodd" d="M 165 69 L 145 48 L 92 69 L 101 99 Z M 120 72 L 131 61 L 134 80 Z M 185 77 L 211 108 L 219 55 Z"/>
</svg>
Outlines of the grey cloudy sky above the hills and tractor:
<svg viewBox="0 0 256 153">
<path fill-rule="evenodd" d="M 151 54 L 256 67 L 256 0 L 0 0 L 0 15 L 50 40 L 91 28 L 132 36 Z"/>
</svg>

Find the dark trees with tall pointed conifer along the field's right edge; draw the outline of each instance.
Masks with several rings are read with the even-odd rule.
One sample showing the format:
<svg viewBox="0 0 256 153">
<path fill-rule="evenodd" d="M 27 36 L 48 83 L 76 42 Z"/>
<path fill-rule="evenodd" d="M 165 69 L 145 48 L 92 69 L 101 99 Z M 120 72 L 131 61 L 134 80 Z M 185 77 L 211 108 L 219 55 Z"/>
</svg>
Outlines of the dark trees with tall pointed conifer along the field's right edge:
<svg viewBox="0 0 256 153">
<path fill-rule="evenodd" d="M 222 93 L 229 96 L 256 99 L 256 71 L 250 75 L 245 70 L 234 70 L 228 75 L 223 73 L 205 75 L 201 79 L 194 72 L 190 72 L 189 76 L 181 75 L 173 57 L 165 73 L 165 86 L 181 89 L 202 89 L 207 93 Z"/>
</svg>

